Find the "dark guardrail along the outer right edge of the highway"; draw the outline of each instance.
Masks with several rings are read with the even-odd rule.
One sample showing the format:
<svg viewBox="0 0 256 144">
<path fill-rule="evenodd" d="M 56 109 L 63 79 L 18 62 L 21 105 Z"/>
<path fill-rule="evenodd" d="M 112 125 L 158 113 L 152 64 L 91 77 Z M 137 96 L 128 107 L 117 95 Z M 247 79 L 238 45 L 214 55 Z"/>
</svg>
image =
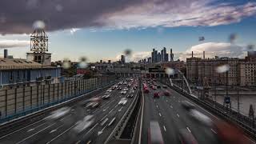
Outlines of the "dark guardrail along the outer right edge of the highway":
<svg viewBox="0 0 256 144">
<path fill-rule="evenodd" d="M 256 130 L 255 129 L 251 128 L 250 126 L 247 126 L 243 122 L 238 121 L 238 119 L 236 119 L 236 118 L 231 118 L 228 114 L 224 113 L 223 110 L 218 109 L 218 107 L 214 107 L 214 106 L 210 105 L 209 103 L 202 101 L 201 99 L 194 98 L 191 94 L 188 94 L 186 91 L 182 90 L 178 86 L 170 86 L 170 84 L 166 84 L 166 85 L 169 86 L 170 88 L 172 88 L 173 90 L 177 91 L 178 93 L 186 96 L 186 98 L 189 98 L 193 102 L 206 108 L 206 110 L 209 110 L 211 113 L 214 113 L 214 114 L 218 115 L 219 117 L 226 119 L 227 121 L 236 123 L 240 128 L 242 128 L 242 130 L 244 130 L 246 132 L 246 134 L 250 135 L 251 138 L 254 138 L 254 140 L 256 140 Z"/>
</svg>

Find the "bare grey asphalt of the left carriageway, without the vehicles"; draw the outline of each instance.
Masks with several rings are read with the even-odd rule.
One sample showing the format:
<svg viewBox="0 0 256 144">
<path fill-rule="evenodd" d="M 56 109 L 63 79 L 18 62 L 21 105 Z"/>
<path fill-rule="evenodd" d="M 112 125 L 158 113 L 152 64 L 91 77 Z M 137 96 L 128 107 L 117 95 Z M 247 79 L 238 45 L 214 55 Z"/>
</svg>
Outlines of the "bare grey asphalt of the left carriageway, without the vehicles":
<svg viewBox="0 0 256 144">
<path fill-rule="evenodd" d="M 122 88 L 126 87 L 126 85 L 120 86 Z M 120 92 L 121 90 L 113 90 L 110 92 L 109 99 L 102 100 L 102 104 L 99 107 L 91 110 L 86 108 L 86 106 L 74 104 L 70 106 L 70 112 L 62 118 L 56 120 L 42 118 L 10 134 L 3 135 L 0 138 L 0 143 L 103 143 L 110 136 L 134 97 L 128 98 L 125 106 L 118 105 L 120 99 L 130 94 L 135 96 L 138 91 L 135 90 L 132 93 L 130 88 L 127 94 L 120 94 Z M 103 91 L 94 97 L 102 97 L 105 93 L 106 91 Z M 83 101 L 86 101 L 86 99 Z M 76 126 L 76 123 L 86 115 L 91 114 L 94 115 L 93 124 L 86 130 L 75 133 L 74 126 Z M 113 118 L 115 118 L 113 124 L 108 126 Z"/>
</svg>

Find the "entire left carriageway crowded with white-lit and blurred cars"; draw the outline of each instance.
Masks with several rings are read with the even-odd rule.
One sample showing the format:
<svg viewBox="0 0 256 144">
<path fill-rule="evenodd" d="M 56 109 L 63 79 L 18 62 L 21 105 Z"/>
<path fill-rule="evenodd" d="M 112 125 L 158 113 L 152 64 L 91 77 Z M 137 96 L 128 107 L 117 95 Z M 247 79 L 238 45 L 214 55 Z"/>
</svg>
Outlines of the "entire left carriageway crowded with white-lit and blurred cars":
<svg viewBox="0 0 256 144">
<path fill-rule="evenodd" d="M 103 143 L 137 95 L 137 86 L 137 80 L 118 82 L 93 98 L 3 135 L 0 143 Z"/>
</svg>

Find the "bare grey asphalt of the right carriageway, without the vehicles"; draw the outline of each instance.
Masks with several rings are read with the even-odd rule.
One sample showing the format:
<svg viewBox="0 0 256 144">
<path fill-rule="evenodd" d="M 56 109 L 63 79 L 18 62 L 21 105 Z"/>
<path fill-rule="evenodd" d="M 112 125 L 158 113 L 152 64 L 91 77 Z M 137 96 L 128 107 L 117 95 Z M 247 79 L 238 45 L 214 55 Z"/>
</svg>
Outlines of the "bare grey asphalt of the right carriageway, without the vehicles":
<svg viewBox="0 0 256 144">
<path fill-rule="evenodd" d="M 162 84 L 158 84 L 162 87 Z M 170 91 L 170 96 L 161 94 L 160 98 L 153 98 L 154 92 L 158 91 L 161 93 L 164 90 Z M 216 132 L 213 129 L 195 121 L 194 118 L 190 117 L 188 111 L 182 107 L 181 102 L 185 100 L 190 101 L 170 88 L 150 89 L 149 94 L 144 94 L 141 143 L 148 143 L 148 130 L 151 121 L 157 121 L 159 123 L 165 144 L 181 143 L 179 135 L 180 130 L 187 130 L 193 134 L 198 143 L 219 143 Z M 194 106 L 196 110 L 205 114 L 210 119 L 218 119 L 202 109 L 202 107 L 195 104 Z"/>
</svg>

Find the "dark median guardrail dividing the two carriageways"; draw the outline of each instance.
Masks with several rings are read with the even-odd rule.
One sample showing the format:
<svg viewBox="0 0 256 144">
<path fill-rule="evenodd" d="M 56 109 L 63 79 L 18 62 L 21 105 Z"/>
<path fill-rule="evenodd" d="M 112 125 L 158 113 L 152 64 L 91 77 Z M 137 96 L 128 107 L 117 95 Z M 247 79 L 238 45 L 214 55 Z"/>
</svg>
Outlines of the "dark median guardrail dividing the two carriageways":
<svg viewBox="0 0 256 144">
<path fill-rule="evenodd" d="M 112 131 L 110 136 L 106 139 L 106 142 L 104 142 L 104 144 L 107 144 L 113 138 L 116 138 L 116 139 L 120 138 L 120 135 L 122 134 L 122 131 L 125 128 L 126 123 L 128 122 L 128 120 L 130 118 L 130 115 L 134 111 L 136 103 L 138 102 L 138 98 L 140 98 L 140 96 L 141 96 L 141 84 L 139 83 L 138 86 L 139 86 L 138 87 L 139 91 L 136 94 L 136 97 L 134 98 L 134 101 L 130 104 L 128 110 L 126 110 L 126 113 L 122 116 L 122 118 L 118 122 L 117 126 L 114 128 L 114 130 Z"/>
</svg>

